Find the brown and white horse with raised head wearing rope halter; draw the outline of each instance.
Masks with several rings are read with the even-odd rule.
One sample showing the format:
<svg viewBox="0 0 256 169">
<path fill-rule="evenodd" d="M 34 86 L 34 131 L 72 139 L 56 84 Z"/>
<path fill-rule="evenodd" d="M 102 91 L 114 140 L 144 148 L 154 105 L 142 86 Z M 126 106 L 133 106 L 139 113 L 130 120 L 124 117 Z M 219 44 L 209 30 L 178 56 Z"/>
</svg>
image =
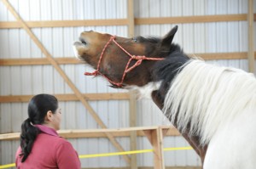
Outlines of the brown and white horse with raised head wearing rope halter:
<svg viewBox="0 0 256 169">
<path fill-rule="evenodd" d="M 111 87 L 154 84 L 151 98 L 201 157 L 204 169 L 256 167 L 256 79 L 232 67 L 189 57 L 164 37 L 116 37 L 83 31 L 76 56 Z"/>
</svg>

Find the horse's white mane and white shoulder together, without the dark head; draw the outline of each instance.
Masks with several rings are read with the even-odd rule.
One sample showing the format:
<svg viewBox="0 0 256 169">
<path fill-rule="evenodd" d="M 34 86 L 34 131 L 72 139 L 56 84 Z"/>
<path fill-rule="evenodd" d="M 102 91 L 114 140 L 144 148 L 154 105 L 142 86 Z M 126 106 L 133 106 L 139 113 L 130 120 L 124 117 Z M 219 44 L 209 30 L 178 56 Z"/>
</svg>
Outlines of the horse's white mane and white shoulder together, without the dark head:
<svg viewBox="0 0 256 169">
<path fill-rule="evenodd" d="M 205 169 L 256 168 L 253 74 L 191 59 L 173 79 L 163 112 L 208 144 Z"/>
</svg>

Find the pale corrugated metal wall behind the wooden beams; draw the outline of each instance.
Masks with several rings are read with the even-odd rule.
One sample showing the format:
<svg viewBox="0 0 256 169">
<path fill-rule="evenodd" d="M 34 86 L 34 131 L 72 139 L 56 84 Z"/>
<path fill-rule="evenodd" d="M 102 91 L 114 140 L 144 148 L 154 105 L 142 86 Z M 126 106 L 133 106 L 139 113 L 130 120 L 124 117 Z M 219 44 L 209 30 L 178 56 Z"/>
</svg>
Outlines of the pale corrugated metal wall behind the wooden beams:
<svg viewBox="0 0 256 169">
<path fill-rule="evenodd" d="M 126 0 L 10 0 L 23 20 L 98 20 L 124 19 L 127 17 Z M 256 2 L 254 0 L 254 11 Z M 134 0 L 136 18 L 193 16 L 212 14 L 247 14 L 247 0 Z M 7 8 L 0 3 L 0 21 L 15 21 Z M 218 53 L 247 52 L 247 21 L 178 24 L 174 42 L 184 52 Z M 164 36 L 173 25 L 136 25 L 135 34 Z M 81 26 L 58 28 L 32 28 L 53 57 L 73 56 L 72 43 L 84 30 L 104 31 L 127 37 L 126 25 Z M 255 39 L 255 38 L 254 38 Z M 255 40 L 254 40 L 255 42 Z M 256 43 L 254 43 L 256 44 Z M 254 46 L 255 48 L 255 46 Z M 44 58 L 40 49 L 22 29 L 0 29 L 0 58 Z M 213 60 L 221 65 L 232 65 L 247 70 L 247 60 Z M 86 65 L 61 65 L 81 93 L 109 93 L 120 90 L 108 87 L 101 78 L 91 79 L 83 75 L 91 70 Z M 124 92 L 124 91 L 122 91 Z M 52 65 L 0 66 L 0 95 L 23 95 L 37 93 L 73 93 Z M 109 128 L 129 127 L 128 101 L 91 101 L 102 121 Z M 62 129 L 98 128 L 83 104 L 75 101 L 61 102 L 63 110 Z M 20 124 L 26 119 L 27 104 L 0 104 L 0 132 L 20 132 Z M 137 101 L 137 126 L 168 124 L 160 110 L 150 99 Z M 124 149 L 130 149 L 128 138 L 118 138 Z M 107 138 L 69 139 L 79 155 L 115 152 Z M 0 164 L 15 161 L 18 141 L 0 142 Z M 165 138 L 165 147 L 187 146 L 181 137 Z M 146 138 L 138 138 L 137 149 L 151 149 Z M 137 155 L 138 166 L 153 166 L 153 155 Z M 83 167 L 126 166 L 122 157 L 102 157 L 81 160 Z M 166 166 L 200 166 L 193 150 L 165 152 Z"/>
</svg>

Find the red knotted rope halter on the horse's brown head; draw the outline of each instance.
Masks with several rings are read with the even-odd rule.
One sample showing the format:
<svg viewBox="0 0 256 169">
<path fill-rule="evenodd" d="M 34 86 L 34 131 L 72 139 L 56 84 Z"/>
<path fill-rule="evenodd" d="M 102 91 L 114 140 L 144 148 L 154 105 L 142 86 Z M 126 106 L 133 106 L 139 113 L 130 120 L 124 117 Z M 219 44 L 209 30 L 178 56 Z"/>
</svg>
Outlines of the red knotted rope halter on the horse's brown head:
<svg viewBox="0 0 256 169">
<path fill-rule="evenodd" d="M 112 83 L 113 85 L 115 85 L 115 86 L 117 86 L 117 87 L 123 87 L 123 82 L 124 82 L 124 79 L 125 79 L 125 75 L 126 75 L 129 71 L 131 71 L 131 70 L 133 70 L 134 68 L 136 68 L 138 65 L 141 65 L 142 62 L 143 62 L 143 59 L 146 59 L 146 60 L 162 60 L 162 59 L 164 59 L 164 58 L 147 58 L 146 56 L 131 55 L 130 53 L 128 53 L 128 52 L 125 50 L 125 48 L 122 48 L 122 47 L 119 45 L 119 43 L 114 40 L 114 38 L 115 38 L 115 36 L 110 37 L 109 41 L 106 43 L 106 45 L 105 45 L 104 48 L 102 49 L 102 54 L 101 54 L 101 56 L 100 56 L 100 59 L 99 59 L 98 65 L 97 65 L 97 69 L 96 69 L 94 72 L 92 72 L 92 73 L 90 73 L 90 72 L 85 72 L 85 73 L 84 73 L 85 76 L 98 76 L 98 75 L 101 75 L 101 76 L 105 77 L 105 78 L 108 80 L 108 82 Z M 108 47 L 108 44 L 109 44 L 110 42 L 112 42 L 112 41 L 113 41 L 119 48 L 121 48 L 121 49 L 125 52 L 125 54 L 128 54 L 128 55 L 131 57 L 131 58 L 128 60 L 126 66 L 125 66 L 125 70 L 124 70 L 124 73 L 123 73 L 123 76 L 122 76 L 122 79 L 121 79 L 120 82 L 113 82 L 113 81 L 111 81 L 107 76 L 104 76 L 104 75 L 99 71 L 100 65 L 101 65 L 101 62 L 102 62 L 103 54 L 104 54 L 106 48 Z M 132 59 L 136 59 L 137 62 L 136 62 L 134 65 L 132 65 L 131 67 L 129 67 L 129 65 L 130 65 Z"/>
</svg>

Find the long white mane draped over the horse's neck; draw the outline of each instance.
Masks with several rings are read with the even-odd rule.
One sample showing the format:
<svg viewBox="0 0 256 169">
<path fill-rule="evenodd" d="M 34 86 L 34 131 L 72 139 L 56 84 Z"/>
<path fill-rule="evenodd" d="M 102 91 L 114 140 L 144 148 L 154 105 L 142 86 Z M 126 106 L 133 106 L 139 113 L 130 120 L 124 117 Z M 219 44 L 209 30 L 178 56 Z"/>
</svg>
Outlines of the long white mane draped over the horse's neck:
<svg viewBox="0 0 256 169">
<path fill-rule="evenodd" d="M 253 74 L 191 60 L 183 66 L 166 93 L 163 112 L 177 128 L 200 135 L 201 144 L 236 115 L 256 113 L 256 79 Z"/>
</svg>

